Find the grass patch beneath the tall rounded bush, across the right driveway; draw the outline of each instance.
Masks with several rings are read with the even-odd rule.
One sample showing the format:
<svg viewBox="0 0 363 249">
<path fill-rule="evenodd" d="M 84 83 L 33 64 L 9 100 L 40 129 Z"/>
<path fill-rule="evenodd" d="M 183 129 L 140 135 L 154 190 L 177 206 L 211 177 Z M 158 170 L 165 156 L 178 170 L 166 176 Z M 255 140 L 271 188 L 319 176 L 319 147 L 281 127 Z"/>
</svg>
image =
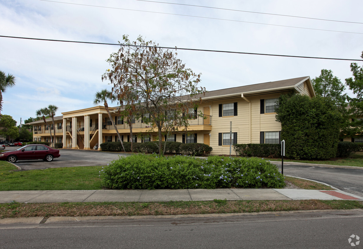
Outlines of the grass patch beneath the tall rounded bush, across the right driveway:
<svg viewBox="0 0 363 249">
<path fill-rule="evenodd" d="M 280 161 L 281 158 L 273 158 L 272 161 Z M 340 166 L 356 166 L 356 167 L 363 167 L 363 151 L 358 151 L 347 158 L 338 158 L 332 160 L 315 160 L 315 161 L 308 161 L 308 160 L 290 160 L 285 159 L 284 162 L 298 162 L 298 163 L 317 163 L 317 164 L 329 164 L 329 165 L 340 165 Z"/>
</svg>

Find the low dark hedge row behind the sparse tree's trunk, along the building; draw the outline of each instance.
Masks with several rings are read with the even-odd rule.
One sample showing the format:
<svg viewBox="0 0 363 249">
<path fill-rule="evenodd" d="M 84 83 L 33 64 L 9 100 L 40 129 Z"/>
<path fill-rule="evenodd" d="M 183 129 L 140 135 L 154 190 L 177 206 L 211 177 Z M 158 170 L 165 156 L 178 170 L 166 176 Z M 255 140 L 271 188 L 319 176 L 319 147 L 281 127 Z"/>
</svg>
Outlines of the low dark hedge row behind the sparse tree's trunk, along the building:
<svg viewBox="0 0 363 249">
<path fill-rule="evenodd" d="M 159 153 L 158 142 L 146 142 L 146 143 L 132 143 L 133 152 L 144 153 Z M 106 142 L 100 144 L 103 151 L 118 151 L 122 152 L 121 142 Z M 123 142 L 125 151 L 131 151 L 131 142 Z M 165 142 L 162 142 L 162 146 L 165 146 Z M 203 154 L 210 154 L 213 150 L 212 147 L 203 143 L 187 143 L 180 142 L 167 142 L 165 152 L 176 154 L 187 154 L 193 156 L 201 156 Z"/>
</svg>

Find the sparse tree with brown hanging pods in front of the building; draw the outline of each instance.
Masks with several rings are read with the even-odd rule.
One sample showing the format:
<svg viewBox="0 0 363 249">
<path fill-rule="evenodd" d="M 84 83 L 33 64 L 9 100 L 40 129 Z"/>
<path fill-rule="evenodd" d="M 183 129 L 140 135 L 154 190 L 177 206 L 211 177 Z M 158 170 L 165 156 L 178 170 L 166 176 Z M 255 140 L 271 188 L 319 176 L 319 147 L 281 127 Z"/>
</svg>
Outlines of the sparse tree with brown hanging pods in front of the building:
<svg viewBox="0 0 363 249">
<path fill-rule="evenodd" d="M 205 93 L 205 89 L 197 87 L 200 74 L 185 68 L 174 49 L 158 48 L 158 44 L 144 41 L 142 36 L 130 42 L 124 35 L 123 41 L 118 52 L 106 60 L 112 69 L 102 75 L 102 81 L 111 82 L 113 95 L 121 106 L 126 106 L 124 97 L 128 91 L 134 93 L 136 109 L 150 115 L 158 129 L 159 155 L 163 155 L 166 148 L 162 148 L 163 135 L 168 136 L 181 127 L 186 130 L 188 117 L 183 113 L 196 106 L 192 99 L 197 94 Z"/>
</svg>

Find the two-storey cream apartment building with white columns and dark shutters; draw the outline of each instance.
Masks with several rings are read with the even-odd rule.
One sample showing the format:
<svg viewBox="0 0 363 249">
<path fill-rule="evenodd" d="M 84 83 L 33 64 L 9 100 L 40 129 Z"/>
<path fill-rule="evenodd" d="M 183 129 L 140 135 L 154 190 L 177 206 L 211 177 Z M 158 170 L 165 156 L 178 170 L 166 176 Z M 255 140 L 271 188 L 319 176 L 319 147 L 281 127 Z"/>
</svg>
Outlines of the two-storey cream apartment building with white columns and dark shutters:
<svg viewBox="0 0 363 249">
<path fill-rule="evenodd" d="M 182 143 L 205 143 L 213 147 L 212 154 L 229 154 L 230 126 L 232 122 L 232 143 L 280 143 L 281 124 L 275 120 L 276 101 L 281 94 L 289 92 L 314 97 L 310 77 L 300 77 L 274 82 L 232 87 L 208 91 L 201 96 L 195 113 L 190 113 L 187 131 L 175 132 L 165 137 L 167 141 Z M 198 99 L 199 102 L 199 99 Z M 109 107 L 113 121 L 123 141 L 148 142 L 156 139 L 157 130 L 150 132 L 152 123 L 143 119 L 132 120 L 129 126 L 117 114 L 118 107 Z M 118 141 L 104 106 L 67 111 L 62 116 L 35 121 L 34 141 L 50 142 L 50 133 L 56 130 L 56 141 L 64 148 L 91 150 L 96 143 Z M 101 150 L 101 148 L 99 148 Z"/>
</svg>

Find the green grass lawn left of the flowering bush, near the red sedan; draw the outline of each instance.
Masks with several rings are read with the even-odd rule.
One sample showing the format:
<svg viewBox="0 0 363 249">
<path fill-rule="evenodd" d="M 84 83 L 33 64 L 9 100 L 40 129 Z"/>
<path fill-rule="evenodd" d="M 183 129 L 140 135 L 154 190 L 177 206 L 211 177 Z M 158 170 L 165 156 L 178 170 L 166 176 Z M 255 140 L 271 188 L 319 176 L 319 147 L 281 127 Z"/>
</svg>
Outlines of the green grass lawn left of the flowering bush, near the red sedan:
<svg viewBox="0 0 363 249">
<path fill-rule="evenodd" d="M 16 171 L 17 168 L 12 164 L 0 161 L 0 191 L 102 189 L 98 176 L 101 167 Z"/>
</svg>

